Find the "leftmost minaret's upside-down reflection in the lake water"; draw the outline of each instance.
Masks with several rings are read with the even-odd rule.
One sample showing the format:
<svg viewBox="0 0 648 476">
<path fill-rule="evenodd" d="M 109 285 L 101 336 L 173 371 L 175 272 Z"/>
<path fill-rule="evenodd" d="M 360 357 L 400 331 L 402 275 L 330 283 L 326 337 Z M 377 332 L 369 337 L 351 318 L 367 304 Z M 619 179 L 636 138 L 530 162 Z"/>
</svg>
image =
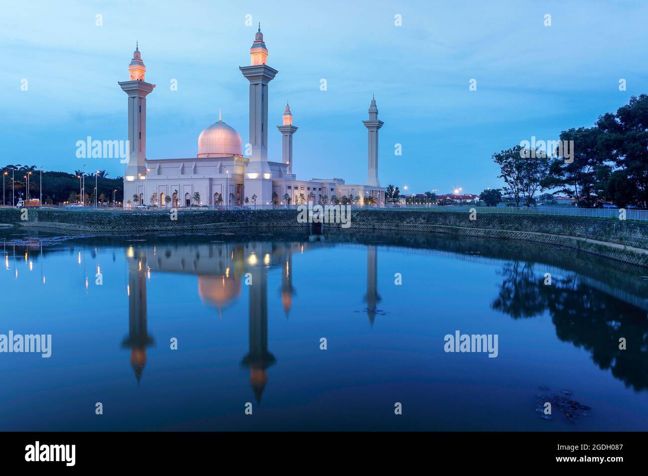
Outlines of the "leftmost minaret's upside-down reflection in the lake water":
<svg viewBox="0 0 648 476">
<path fill-rule="evenodd" d="M 128 262 L 128 336 L 122 347 L 130 347 L 130 364 L 135 370 L 137 383 L 146 363 L 146 347 L 154 339 L 146 330 L 146 251 L 132 246 L 126 249 Z"/>
</svg>

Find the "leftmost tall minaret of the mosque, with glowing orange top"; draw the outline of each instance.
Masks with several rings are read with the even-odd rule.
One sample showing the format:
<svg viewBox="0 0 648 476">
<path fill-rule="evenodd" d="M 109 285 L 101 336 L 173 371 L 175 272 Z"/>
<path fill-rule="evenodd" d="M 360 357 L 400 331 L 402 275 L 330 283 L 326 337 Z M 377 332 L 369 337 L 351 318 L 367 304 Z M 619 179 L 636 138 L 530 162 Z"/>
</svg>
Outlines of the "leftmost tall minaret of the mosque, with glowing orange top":
<svg viewBox="0 0 648 476">
<path fill-rule="evenodd" d="M 139 52 L 139 45 L 135 46 L 133 59 L 128 65 L 130 79 L 118 84 L 128 95 L 128 166 L 124 173 L 124 202 L 132 194 L 126 192 L 126 182 L 143 179 L 146 177 L 146 95 L 153 91 L 155 84 L 145 82 L 146 66 Z M 135 191 L 135 188 L 132 190 Z"/>
</svg>

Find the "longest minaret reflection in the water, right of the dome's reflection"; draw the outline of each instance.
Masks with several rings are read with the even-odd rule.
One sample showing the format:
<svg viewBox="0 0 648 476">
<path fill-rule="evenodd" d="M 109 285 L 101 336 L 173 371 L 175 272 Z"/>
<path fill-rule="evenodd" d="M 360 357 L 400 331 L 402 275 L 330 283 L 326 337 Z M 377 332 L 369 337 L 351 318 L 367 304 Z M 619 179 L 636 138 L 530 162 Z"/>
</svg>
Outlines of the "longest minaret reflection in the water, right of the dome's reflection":
<svg viewBox="0 0 648 476">
<path fill-rule="evenodd" d="M 248 255 L 249 285 L 249 352 L 241 365 L 249 367 L 249 383 L 257 399 L 268 382 L 266 369 L 275 363 L 268 352 L 268 267 L 271 264 L 271 244 L 257 243 Z"/>
</svg>

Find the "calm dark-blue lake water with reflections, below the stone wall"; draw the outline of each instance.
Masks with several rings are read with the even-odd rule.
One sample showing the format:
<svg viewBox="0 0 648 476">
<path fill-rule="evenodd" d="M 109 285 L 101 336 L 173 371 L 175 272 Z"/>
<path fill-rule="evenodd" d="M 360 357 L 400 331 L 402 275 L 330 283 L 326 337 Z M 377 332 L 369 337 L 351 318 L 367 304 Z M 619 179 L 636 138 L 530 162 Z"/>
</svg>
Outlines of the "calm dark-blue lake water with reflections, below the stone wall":
<svg viewBox="0 0 648 476">
<path fill-rule="evenodd" d="M 0 430 L 648 429 L 645 270 L 440 236 L 25 238 L 0 230 L 0 334 L 52 356 L 0 354 Z M 456 330 L 498 356 L 446 353 Z"/>
</svg>

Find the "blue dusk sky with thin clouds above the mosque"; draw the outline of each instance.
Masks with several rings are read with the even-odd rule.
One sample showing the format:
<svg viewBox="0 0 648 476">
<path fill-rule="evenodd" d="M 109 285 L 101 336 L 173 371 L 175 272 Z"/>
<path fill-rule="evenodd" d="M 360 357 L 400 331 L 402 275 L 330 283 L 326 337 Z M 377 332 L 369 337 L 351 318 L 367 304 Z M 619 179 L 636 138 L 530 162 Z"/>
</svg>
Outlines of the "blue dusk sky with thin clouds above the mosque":
<svg viewBox="0 0 648 476">
<path fill-rule="evenodd" d="M 364 183 L 360 121 L 375 93 L 385 122 L 382 185 L 479 193 L 502 185 L 492 153 L 591 126 L 648 89 L 647 17 L 640 1 L 0 0 L 0 163 L 68 172 L 89 163 L 123 175 L 118 159 L 77 159 L 75 143 L 126 139 L 117 81 L 128 79 L 135 40 L 146 80 L 157 85 L 148 96 L 148 158 L 194 156 L 219 108 L 245 144 L 248 82 L 238 67 L 249 64 L 260 21 L 268 65 L 279 70 L 269 120 L 281 124 L 290 101 L 298 179 Z M 274 128 L 268 155 L 281 159 Z"/>
</svg>

